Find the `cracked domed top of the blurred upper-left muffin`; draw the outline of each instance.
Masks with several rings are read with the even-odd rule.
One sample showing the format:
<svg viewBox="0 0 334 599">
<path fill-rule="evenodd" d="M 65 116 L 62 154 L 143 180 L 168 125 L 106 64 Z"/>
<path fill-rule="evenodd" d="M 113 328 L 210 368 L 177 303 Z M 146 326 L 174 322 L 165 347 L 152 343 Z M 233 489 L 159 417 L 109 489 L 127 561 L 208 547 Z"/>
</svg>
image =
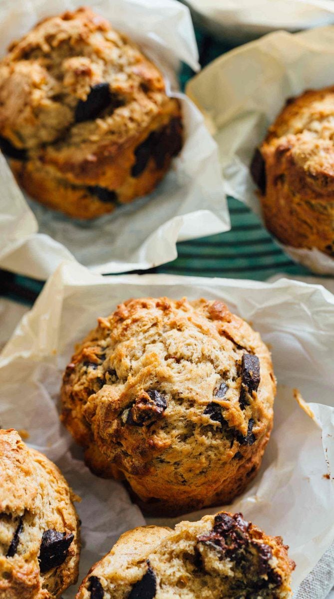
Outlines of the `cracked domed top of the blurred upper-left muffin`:
<svg viewBox="0 0 334 599">
<path fill-rule="evenodd" d="M 60 138 L 72 149 L 119 143 L 167 99 L 156 66 L 89 8 L 45 19 L 11 44 L 0 82 L 0 134 L 19 150 Z"/>
</svg>

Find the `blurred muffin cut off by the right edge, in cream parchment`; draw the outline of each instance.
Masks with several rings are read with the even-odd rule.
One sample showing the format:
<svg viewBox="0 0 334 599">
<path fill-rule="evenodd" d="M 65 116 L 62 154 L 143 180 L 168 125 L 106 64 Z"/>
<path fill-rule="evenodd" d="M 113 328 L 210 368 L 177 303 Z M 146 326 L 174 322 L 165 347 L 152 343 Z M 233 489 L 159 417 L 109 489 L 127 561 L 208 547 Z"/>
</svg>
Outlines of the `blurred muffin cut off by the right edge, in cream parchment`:
<svg viewBox="0 0 334 599">
<path fill-rule="evenodd" d="M 251 174 L 266 226 L 289 246 L 334 256 L 334 87 L 289 99 Z"/>
</svg>

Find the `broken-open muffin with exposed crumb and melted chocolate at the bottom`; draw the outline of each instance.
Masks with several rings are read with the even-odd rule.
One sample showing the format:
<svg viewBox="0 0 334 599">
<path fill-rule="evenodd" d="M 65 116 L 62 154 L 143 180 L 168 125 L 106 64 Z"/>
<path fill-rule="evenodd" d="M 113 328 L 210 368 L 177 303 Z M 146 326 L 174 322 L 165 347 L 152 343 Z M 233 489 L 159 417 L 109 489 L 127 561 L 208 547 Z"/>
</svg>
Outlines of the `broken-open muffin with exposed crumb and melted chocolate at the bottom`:
<svg viewBox="0 0 334 599">
<path fill-rule="evenodd" d="M 242 514 L 135 528 L 93 565 L 76 599 L 287 599 L 288 548 Z"/>
</svg>

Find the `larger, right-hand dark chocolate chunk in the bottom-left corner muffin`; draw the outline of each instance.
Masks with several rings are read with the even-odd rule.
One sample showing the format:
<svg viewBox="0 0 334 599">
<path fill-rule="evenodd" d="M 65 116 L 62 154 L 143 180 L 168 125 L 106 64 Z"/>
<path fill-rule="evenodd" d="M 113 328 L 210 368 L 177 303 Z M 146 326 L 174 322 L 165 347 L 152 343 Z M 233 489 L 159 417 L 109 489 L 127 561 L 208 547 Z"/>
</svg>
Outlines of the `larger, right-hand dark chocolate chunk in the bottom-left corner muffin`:
<svg viewBox="0 0 334 599">
<path fill-rule="evenodd" d="M 40 562 L 40 571 L 42 574 L 65 562 L 68 548 L 73 539 L 74 534 L 72 533 L 58 533 L 52 528 L 44 531 L 42 535 L 40 555 L 38 556 L 38 561 Z"/>
</svg>

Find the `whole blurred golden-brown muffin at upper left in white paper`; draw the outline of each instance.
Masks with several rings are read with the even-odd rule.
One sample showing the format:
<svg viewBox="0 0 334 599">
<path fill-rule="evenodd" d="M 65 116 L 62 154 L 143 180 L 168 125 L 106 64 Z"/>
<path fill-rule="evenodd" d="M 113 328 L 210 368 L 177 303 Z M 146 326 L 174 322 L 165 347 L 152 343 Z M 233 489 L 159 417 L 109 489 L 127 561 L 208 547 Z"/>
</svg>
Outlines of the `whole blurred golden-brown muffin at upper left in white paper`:
<svg viewBox="0 0 334 599">
<path fill-rule="evenodd" d="M 89 8 L 38 23 L 0 63 L 2 150 L 29 195 L 89 219 L 151 192 L 182 146 L 159 69 Z"/>
</svg>

